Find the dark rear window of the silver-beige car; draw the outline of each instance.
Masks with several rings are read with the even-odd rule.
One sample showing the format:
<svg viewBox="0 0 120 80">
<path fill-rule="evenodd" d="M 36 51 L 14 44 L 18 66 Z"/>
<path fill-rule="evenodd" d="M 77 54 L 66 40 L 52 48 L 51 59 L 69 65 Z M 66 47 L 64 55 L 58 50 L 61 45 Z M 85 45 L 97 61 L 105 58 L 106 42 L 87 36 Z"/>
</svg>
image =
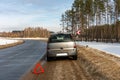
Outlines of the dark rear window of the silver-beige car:
<svg viewBox="0 0 120 80">
<path fill-rule="evenodd" d="M 49 42 L 68 42 L 72 41 L 72 36 L 70 34 L 55 34 L 51 35 L 49 38 Z"/>
</svg>

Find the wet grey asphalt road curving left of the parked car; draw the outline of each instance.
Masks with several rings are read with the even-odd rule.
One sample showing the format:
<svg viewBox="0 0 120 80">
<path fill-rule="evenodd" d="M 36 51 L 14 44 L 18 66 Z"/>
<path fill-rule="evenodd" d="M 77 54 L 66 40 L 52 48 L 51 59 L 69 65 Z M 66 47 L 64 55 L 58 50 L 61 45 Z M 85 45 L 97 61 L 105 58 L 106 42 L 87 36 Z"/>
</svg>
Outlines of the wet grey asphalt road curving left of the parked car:
<svg viewBox="0 0 120 80">
<path fill-rule="evenodd" d="M 45 53 L 46 43 L 33 40 L 0 50 L 0 80 L 19 80 Z"/>
</svg>

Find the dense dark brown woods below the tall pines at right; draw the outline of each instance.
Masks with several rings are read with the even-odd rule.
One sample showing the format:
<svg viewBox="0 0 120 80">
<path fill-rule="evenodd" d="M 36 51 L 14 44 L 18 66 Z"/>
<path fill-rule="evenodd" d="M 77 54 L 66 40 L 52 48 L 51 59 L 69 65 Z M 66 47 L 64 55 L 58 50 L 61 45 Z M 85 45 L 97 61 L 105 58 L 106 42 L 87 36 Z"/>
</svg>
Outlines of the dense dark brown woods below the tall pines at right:
<svg viewBox="0 0 120 80">
<path fill-rule="evenodd" d="M 120 22 L 111 25 L 91 26 L 85 29 L 79 38 L 84 41 L 120 42 Z"/>
</svg>

